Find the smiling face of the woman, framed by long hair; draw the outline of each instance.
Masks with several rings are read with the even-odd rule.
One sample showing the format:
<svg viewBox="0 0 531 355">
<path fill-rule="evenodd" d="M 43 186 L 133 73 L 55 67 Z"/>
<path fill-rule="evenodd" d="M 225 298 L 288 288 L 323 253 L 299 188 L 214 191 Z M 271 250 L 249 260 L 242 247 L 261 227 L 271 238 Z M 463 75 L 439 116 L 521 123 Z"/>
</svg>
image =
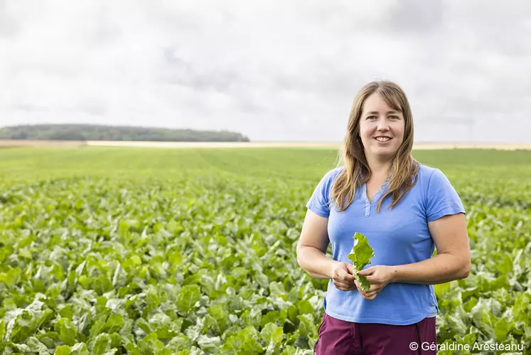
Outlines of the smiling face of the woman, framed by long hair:
<svg viewBox="0 0 531 355">
<path fill-rule="evenodd" d="M 393 110 L 375 92 L 365 99 L 360 117 L 360 137 L 365 157 L 390 159 L 404 140 L 405 122 L 402 112 Z"/>
</svg>

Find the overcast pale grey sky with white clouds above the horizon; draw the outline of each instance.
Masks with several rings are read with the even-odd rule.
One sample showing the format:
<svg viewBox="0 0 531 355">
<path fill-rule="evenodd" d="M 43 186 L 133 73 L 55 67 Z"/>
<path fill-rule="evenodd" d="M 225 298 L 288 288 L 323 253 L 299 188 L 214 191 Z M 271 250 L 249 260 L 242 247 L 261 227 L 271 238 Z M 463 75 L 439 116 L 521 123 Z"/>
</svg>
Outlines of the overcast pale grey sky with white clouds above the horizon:
<svg viewBox="0 0 531 355">
<path fill-rule="evenodd" d="M 531 142 L 531 1 L 0 0 L 0 126 L 339 142 L 393 80 L 416 142 Z"/>
</svg>

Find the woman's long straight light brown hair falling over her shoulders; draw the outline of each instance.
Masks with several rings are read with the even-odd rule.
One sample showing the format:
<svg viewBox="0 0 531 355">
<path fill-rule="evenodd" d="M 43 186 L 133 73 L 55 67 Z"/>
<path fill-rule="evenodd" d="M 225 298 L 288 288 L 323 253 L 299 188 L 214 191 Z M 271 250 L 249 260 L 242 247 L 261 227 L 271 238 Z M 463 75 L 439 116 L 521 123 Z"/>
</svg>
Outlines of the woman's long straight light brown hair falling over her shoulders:
<svg viewBox="0 0 531 355">
<path fill-rule="evenodd" d="M 389 208 L 393 208 L 417 182 L 419 163 L 411 156 L 413 117 L 407 97 L 395 83 L 373 81 L 363 86 L 354 99 L 348 119 L 348 131 L 341 149 L 343 152 L 340 151 L 338 154 L 338 167 L 345 167 L 334 181 L 331 191 L 331 202 L 336 202 L 338 211 L 344 211 L 350 206 L 350 203 L 355 199 L 355 192 L 370 178 L 371 171 L 360 137 L 360 116 L 363 111 L 363 103 L 367 97 L 375 92 L 380 93 L 383 100 L 393 110 L 402 112 L 405 121 L 404 141 L 392 159 L 392 176 L 386 193 L 377 204 L 376 211 L 380 212 L 382 201 L 391 194 L 392 203 Z"/>
</svg>

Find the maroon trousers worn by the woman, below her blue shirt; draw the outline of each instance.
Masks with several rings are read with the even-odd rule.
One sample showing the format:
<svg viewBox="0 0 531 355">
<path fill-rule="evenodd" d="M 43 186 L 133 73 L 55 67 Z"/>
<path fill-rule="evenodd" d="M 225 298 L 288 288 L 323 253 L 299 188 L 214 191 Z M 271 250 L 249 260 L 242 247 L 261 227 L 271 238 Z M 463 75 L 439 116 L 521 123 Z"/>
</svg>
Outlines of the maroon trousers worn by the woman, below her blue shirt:
<svg viewBox="0 0 531 355">
<path fill-rule="evenodd" d="M 436 354 L 435 317 L 410 325 L 353 323 L 324 314 L 316 355 Z"/>
</svg>

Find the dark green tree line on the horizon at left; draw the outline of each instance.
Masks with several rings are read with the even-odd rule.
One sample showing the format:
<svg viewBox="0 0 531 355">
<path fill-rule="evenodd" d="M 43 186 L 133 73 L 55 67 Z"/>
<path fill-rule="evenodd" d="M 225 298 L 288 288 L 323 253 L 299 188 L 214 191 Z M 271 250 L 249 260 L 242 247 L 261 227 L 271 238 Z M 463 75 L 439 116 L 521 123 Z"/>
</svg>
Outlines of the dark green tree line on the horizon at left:
<svg viewBox="0 0 531 355">
<path fill-rule="evenodd" d="M 0 127 L 0 139 L 147 142 L 250 142 L 237 132 L 100 124 L 24 124 Z"/>
</svg>

